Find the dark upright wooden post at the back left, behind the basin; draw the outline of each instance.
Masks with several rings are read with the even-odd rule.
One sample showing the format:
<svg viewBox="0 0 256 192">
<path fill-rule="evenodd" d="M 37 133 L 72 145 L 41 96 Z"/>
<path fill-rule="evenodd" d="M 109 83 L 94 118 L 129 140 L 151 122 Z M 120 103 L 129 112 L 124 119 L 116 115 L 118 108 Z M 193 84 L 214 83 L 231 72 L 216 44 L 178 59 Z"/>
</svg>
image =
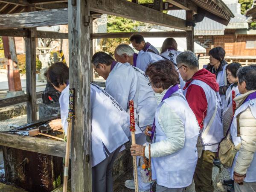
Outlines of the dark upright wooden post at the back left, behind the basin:
<svg viewBox="0 0 256 192">
<path fill-rule="evenodd" d="M 29 9 L 29 7 L 27 8 Z M 30 8 L 29 10 L 31 10 Z M 32 10 L 31 10 L 32 11 Z M 26 47 L 26 93 L 29 94 L 27 102 L 27 122 L 36 121 L 36 65 L 35 65 L 35 35 L 36 28 L 28 29 L 29 35 L 25 40 Z"/>
</svg>

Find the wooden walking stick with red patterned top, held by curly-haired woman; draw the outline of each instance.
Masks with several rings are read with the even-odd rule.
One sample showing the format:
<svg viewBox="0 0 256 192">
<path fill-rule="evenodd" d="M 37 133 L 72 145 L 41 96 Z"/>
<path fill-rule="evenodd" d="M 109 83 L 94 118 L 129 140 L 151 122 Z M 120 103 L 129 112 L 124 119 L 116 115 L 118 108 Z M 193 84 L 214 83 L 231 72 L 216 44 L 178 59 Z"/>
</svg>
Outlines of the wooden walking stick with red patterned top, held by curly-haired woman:
<svg viewBox="0 0 256 192">
<path fill-rule="evenodd" d="M 129 102 L 130 107 L 130 131 L 131 131 L 131 143 L 136 144 L 135 139 L 135 118 L 134 118 L 134 102 L 131 100 Z M 135 192 L 139 192 L 138 189 L 138 175 L 137 175 L 137 159 L 136 156 L 133 156 L 133 166 L 134 166 L 134 186 L 135 186 Z"/>
</svg>

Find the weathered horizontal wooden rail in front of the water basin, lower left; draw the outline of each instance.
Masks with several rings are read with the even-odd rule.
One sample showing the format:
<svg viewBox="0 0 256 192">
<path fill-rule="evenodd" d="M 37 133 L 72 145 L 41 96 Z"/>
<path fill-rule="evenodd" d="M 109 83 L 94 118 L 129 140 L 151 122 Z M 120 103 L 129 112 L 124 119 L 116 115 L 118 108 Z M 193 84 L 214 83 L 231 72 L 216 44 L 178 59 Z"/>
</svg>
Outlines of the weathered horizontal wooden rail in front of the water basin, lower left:
<svg viewBox="0 0 256 192">
<path fill-rule="evenodd" d="M 57 157 L 65 157 L 66 150 L 65 142 L 3 132 L 0 132 L 0 145 Z"/>
</svg>

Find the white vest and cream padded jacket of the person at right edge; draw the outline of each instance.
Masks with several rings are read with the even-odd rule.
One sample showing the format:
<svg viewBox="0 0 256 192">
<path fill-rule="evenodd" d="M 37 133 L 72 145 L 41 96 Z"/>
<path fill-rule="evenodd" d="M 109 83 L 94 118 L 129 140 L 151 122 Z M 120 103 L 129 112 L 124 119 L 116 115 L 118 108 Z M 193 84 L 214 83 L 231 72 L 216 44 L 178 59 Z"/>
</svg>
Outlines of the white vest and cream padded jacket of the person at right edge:
<svg viewBox="0 0 256 192">
<path fill-rule="evenodd" d="M 243 98 L 244 96 L 252 92 L 251 91 L 247 92 L 243 95 L 236 97 L 235 99 L 239 100 L 240 98 Z M 241 113 L 241 116 L 240 116 L 241 137 L 238 137 L 237 135 L 236 118 L 239 113 Z M 239 143 L 241 143 L 240 150 L 236 153 L 233 166 L 229 169 L 230 175 L 231 175 L 231 178 L 233 178 L 234 171 L 237 171 L 239 174 L 246 173 L 246 177 L 244 178 L 245 182 L 256 182 L 255 119 L 256 119 L 256 99 L 252 99 L 242 104 L 236 110 L 233 121 L 230 126 L 230 134 L 231 134 L 231 138 L 234 145 L 237 146 L 239 145 Z M 254 151 L 254 154 L 252 151 Z M 239 155 L 240 152 L 241 152 L 241 155 Z M 245 156 L 245 157 L 242 157 L 242 156 Z M 236 161 L 239 161 L 240 165 L 236 165 Z M 241 171 L 243 170 L 243 172 L 240 172 L 240 170 Z"/>
</svg>

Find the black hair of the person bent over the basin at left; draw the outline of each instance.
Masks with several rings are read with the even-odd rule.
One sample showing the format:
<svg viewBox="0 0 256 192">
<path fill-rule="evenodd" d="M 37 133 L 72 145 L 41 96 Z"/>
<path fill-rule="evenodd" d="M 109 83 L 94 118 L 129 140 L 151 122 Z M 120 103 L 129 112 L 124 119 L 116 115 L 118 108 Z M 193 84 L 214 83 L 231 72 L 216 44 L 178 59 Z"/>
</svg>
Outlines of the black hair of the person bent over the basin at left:
<svg viewBox="0 0 256 192">
<path fill-rule="evenodd" d="M 59 87 L 64 83 L 67 84 L 69 81 L 69 68 L 62 62 L 52 64 L 47 71 L 47 79 L 55 87 Z"/>
</svg>

